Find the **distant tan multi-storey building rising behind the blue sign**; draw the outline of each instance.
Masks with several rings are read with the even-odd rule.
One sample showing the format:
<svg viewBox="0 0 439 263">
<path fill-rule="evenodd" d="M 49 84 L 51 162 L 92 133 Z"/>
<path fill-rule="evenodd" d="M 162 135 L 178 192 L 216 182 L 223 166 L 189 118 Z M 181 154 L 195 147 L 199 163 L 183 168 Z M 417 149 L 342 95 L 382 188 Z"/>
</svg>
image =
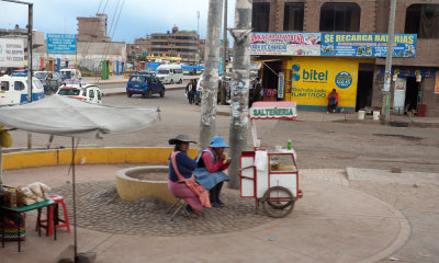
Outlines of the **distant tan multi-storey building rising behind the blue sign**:
<svg viewBox="0 0 439 263">
<path fill-rule="evenodd" d="M 78 41 L 110 42 L 106 34 L 106 14 L 98 13 L 97 18 L 77 18 Z"/>
</svg>

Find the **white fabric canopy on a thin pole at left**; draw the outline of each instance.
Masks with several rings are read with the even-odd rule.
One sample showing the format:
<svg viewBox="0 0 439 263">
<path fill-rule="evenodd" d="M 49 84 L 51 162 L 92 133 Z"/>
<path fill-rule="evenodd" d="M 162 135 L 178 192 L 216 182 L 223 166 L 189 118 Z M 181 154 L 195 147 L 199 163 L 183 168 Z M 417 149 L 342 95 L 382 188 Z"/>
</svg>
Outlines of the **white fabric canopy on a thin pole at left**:
<svg viewBox="0 0 439 263">
<path fill-rule="evenodd" d="M 157 122 L 158 116 L 158 110 L 97 105 L 60 95 L 0 107 L 0 125 L 77 138 L 139 130 Z"/>
</svg>

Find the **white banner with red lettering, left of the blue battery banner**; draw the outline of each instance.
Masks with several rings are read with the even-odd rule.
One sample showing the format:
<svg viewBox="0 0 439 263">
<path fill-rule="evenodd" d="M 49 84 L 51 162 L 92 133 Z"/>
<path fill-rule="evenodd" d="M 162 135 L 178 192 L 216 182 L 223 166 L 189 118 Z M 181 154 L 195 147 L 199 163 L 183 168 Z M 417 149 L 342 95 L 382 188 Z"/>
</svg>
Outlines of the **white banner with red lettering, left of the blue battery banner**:
<svg viewBox="0 0 439 263">
<path fill-rule="evenodd" d="M 319 56 L 320 33 L 252 33 L 250 55 Z"/>
</svg>

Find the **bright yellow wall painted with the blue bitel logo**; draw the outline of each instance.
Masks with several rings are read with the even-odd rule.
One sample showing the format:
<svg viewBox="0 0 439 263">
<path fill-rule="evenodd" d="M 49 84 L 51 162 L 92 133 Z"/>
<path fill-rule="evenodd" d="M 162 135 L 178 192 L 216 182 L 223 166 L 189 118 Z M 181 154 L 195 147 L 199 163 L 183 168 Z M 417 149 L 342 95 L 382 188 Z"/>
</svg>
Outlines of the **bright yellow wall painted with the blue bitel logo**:
<svg viewBox="0 0 439 263">
<path fill-rule="evenodd" d="M 295 101 L 299 108 L 324 110 L 328 104 L 328 94 L 336 89 L 338 107 L 354 110 L 358 61 L 331 58 L 328 65 L 325 58 L 303 57 L 288 61 L 292 70 L 292 87 L 286 99 Z"/>
</svg>

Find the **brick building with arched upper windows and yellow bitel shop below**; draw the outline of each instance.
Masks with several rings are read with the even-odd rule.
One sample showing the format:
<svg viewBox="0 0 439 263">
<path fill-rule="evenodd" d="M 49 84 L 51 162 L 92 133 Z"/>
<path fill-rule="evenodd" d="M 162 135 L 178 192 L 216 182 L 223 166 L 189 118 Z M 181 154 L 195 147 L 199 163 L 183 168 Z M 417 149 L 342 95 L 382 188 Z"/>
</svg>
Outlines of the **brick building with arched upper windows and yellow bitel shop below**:
<svg viewBox="0 0 439 263">
<path fill-rule="evenodd" d="M 254 61 L 263 65 L 263 87 L 279 89 L 280 78 L 273 72 L 282 72 L 284 90 L 278 100 L 294 100 L 300 107 L 324 110 L 327 93 L 336 89 L 340 106 L 346 110 L 381 108 L 385 56 L 371 55 L 371 50 L 385 45 L 389 11 L 390 0 L 254 0 L 254 33 L 272 33 L 271 37 L 297 33 L 307 44 L 320 44 L 318 54 L 313 53 L 317 48 L 307 49 L 312 45 L 289 55 L 254 53 Z M 439 116 L 439 1 L 398 0 L 395 34 L 405 35 L 398 36 L 396 43 L 403 52 L 394 52 L 393 58 L 393 114 Z M 328 45 L 330 37 L 337 41 Z M 364 45 L 349 55 L 344 53 L 348 50 L 344 45 L 352 37 L 360 37 Z M 368 37 L 373 41 L 368 42 Z M 356 44 L 359 43 L 352 45 Z M 340 53 L 333 50 L 337 47 Z M 346 81 L 349 88 L 344 87 Z"/>
</svg>

